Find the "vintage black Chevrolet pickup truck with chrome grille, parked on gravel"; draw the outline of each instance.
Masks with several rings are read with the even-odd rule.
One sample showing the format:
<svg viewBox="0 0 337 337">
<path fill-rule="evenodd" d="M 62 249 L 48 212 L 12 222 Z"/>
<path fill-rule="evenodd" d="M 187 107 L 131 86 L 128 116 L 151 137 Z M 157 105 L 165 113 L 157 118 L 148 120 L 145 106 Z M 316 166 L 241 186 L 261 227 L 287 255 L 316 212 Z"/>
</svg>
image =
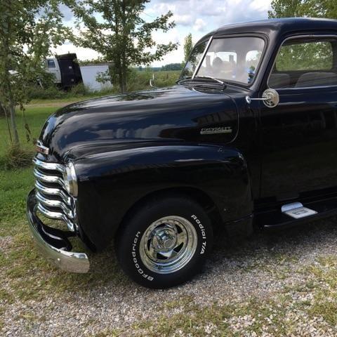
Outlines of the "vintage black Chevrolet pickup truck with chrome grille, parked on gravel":
<svg viewBox="0 0 337 337">
<path fill-rule="evenodd" d="M 70 237 L 91 251 L 114 241 L 134 281 L 175 286 L 201 270 L 217 228 L 248 235 L 336 214 L 336 153 L 337 21 L 229 25 L 197 43 L 175 86 L 48 118 L 29 227 L 64 270 L 90 270 Z"/>
</svg>

